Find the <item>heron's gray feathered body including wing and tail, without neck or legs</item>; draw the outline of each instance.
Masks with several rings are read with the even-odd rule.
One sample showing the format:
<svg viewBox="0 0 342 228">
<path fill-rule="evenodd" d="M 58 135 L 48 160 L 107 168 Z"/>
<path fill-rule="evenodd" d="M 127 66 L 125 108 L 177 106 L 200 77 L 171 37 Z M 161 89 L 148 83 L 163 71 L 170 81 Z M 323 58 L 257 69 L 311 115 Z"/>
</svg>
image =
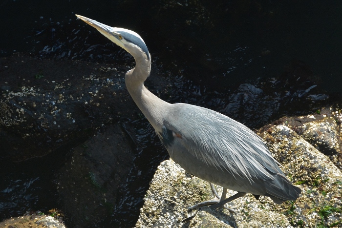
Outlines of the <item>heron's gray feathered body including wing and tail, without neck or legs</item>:
<svg viewBox="0 0 342 228">
<path fill-rule="evenodd" d="M 270 196 L 276 203 L 299 196 L 300 189 L 287 180 L 260 137 L 218 112 L 172 104 L 158 136 L 176 163 L 205 181 Z"/>
</svg>

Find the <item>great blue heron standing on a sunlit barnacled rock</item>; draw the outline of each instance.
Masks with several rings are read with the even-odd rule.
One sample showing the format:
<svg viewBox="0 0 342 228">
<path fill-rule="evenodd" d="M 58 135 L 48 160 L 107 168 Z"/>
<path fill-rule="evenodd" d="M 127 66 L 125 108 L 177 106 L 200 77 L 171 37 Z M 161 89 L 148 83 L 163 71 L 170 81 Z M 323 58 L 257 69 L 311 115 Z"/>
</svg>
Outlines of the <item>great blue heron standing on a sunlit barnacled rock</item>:
<svg viewBox="0 0 342 228">
<path fill-rule="evenodd" d="M 277 204 L 299 197 L 300 188 L 286 178 L 278 167 L 280 164 L 251 129 L 204 107 L 167 103 L 144 86 L 150 75 L 151 57 L 137 33 L 76 16 L 134 57 L 135 68 L 125 77 L 128 92 L 172 160 L 188 173 L 223 187 L 219 197 L 211 184 L 215 198 L 189 209 L 204 205 L 222 207 L 246 193 L 256 198 L 268 196 Z M 237 193 L 226 199 L 227 188 Z"/>
</svg>

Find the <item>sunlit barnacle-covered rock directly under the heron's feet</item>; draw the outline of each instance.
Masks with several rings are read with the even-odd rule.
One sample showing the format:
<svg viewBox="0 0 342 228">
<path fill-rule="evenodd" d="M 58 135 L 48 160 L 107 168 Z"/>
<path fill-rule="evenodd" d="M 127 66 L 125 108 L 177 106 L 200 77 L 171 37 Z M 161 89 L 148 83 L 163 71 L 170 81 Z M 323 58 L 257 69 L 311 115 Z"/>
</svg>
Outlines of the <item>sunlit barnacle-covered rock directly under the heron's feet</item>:
<svg viewBox="0 0 342 228">
<path fill-rule="evenodd" d="M 222 188 L 218 189 L 221 194 Z M 229 195 L 234 193 L 236 192 L 228 190 Z M 247 227 L 260 227 L 262 222 L 285 227 L 289 225 L 283 214 L 270 213 L 269 206 L 262 206 L 252 195 L 241 197 L 229 204 L 229 207 L 237 212 L 236 215 L 230 214 L 227 209 L 213 210 L 209 207 L 203 207 L 199 211 L 187 211 L 188 207 L 211 198 L 213 195 L 207 182 L 191 177 L 171 159 L 164 161 L 158 167 L 145 196 L 145 204 L 140 210 L 136 227 L 236 228 L 238 223 L 244 222 L 247 217 L 250 220 L 244 223 Z M 262 207 L 268 207 L 268 210 Z"/>
</svg>

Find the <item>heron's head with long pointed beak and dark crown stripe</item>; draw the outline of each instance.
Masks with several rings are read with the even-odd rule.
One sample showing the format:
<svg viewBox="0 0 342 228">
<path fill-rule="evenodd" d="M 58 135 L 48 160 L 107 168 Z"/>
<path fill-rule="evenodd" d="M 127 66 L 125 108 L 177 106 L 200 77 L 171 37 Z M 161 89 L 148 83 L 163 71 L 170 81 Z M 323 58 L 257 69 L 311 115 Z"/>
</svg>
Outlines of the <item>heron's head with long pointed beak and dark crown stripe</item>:
<svg viewBox="0 0 342 228">
<path fill-rule="evenodd" d="M 110 27 L 106 24 L 83 17 L 81 15 L 76 14 L 76 17 L 96 28 L 110 41 L 128 51 L 128 53 L 131 54 L 135 59 L 143 56 L 146 60 L 150 61 L 149 50 L 143 39 L 136 32 L 125 28 Z"/>
</svg>

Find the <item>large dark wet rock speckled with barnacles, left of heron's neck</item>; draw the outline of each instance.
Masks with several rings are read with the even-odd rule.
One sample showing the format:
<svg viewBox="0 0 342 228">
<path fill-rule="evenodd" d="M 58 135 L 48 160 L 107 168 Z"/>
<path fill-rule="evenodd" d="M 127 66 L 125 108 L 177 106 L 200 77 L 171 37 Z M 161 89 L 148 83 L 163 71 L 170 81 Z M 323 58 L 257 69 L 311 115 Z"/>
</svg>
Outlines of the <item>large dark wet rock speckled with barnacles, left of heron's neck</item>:
<svg viewBox="0 0 342 228">
<path fill-rule="evenodd" d="M 102 124 L 136 115 L 124 83 L 128 69 L 18 55 L 0 59 L 0 156 L 43 156 L 78 145 Z M 165 88 L 162 80 L 151 83 L 152 90 Z"/>
</svg>

